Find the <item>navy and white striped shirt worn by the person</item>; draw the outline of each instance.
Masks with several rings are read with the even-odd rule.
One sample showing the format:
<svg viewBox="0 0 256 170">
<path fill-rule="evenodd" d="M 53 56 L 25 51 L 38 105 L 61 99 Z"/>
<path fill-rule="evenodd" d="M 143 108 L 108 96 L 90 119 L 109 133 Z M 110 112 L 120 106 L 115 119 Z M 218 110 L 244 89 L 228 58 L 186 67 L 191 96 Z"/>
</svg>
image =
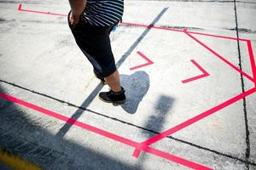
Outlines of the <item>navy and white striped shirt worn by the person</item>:
<svg viewBox="0 0 256 170">
<path fill-rule="evenodd" d="M 87 0 L 84 20 L 92 26 L 112 26 L 124 13 L 124 0 Z"/>
</svg>

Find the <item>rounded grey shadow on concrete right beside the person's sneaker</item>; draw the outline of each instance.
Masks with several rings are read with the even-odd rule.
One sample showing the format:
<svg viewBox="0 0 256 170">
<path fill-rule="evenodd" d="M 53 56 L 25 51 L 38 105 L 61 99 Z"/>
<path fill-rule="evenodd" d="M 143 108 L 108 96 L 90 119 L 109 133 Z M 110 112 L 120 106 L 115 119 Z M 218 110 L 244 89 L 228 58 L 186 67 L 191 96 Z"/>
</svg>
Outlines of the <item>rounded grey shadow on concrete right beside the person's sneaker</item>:
<svg viewBox="0 0 256 170">
<path fill-rule="evenodd" d="M 134 114 L 148 92 L 150 84 L 148 74 L 145 71 L 137 71 L 131 76 L 120 75 L 120 80 L 126 91 L 126 102 L 121 106 L 127 113 Z"/>
</svg>

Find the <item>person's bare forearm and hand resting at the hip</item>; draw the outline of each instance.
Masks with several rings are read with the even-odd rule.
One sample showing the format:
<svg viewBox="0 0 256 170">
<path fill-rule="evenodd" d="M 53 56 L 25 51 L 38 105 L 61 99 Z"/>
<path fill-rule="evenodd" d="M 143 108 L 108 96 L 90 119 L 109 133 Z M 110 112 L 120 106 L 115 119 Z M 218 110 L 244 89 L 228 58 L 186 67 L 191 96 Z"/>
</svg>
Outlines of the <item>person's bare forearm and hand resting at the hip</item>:
<svg viewBox="0 0 256 170">
<path fill-rule="evenodd" d="M 79 23 L 79 17 L 84 11 L 86 0 L 69 0 L 69 4 L 71 7 L 69 21 L 71 25 L 75 26 Z"/>
</svg>

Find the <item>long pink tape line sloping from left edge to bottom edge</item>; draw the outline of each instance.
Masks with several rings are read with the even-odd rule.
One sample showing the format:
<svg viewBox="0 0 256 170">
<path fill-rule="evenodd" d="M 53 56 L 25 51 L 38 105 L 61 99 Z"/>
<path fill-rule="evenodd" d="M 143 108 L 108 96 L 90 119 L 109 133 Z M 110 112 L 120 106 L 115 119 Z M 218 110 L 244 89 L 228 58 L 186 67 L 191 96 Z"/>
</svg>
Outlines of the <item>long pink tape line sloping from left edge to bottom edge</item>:
<svg viewBox="0 0 256 170">
<path fill-rule="evenodd" d="M 46 109 L 44 109 L 44 108 L 42 108 L 38 105 L 33 105 L 33 104 L 28 103 L 24 100 L 17 99 L 17 98 L 15 98 L 15 97 L 13 97 L 9 94 L 0 93 L 0 97 L 3 98 L 3 99 L 7 99 L 9 101 L 15 102 L 16 104 L 26 106 L 27 108 L 30 108 L 34 111 L 39 111 L 39 112 L 43 113 L 44 115 L 55 117 L 56 119 L 61 120 L 63 122 L 67 122 L 67 123 L 72 124 L 74 126 L 84 128 L 84 129 L 86 129 L 90 132 L 100 134 L 104 137 L 107 137 L 108 139 L 113 139 L 115 141 L 118 141 L 120 143 L 129 145 L 129 146 L 134 147 L 134 148 L 137 148 L 139 146 L 139 143 L 137 143 L 137 142 L 135 142 L 131 139 L 125 139 L 124 137 L 121 137 L 121 136 L 113 134 L 113 133 L 109 133 L 108 131 L 102 130 L 102 129 L 97 128 L 97 127 L 93 127 L 93 126 L 91 126 L 89 124 L 86 124 L 84 122 L 79 122 L 79 121 L 74 120 L 73 118 L 63 116 L 63 115 L 61 115 L 59 113 L 56 113 L 54 111 L 46 110 Z M 202 170 L 212 169 L 210 167 L 205 167 L 205 166 L 200 165 L 198 163 L 185 160 L 185 159 L 183 159 L 181 157 L 178 157 L 178 156 L 173 156 L 173 155 L 168 154 L 164 151 L 157 150 L 157 149 L 154 149 L 154 148 L 151 148 L 151 147 L 145 147 L 145 148 L 143 148 L 143 150 L 145 152 L 148 152 L 148 153 L 154 155 L 154 156 L 160 156 L 160 157 L 165 158 L 167 160 L 177 162 L 178 164 L 181 164 L 185 167 L 189 167 L 189 168 L 193 168 L 193 169 L 202 169 Z"/>
</svg>

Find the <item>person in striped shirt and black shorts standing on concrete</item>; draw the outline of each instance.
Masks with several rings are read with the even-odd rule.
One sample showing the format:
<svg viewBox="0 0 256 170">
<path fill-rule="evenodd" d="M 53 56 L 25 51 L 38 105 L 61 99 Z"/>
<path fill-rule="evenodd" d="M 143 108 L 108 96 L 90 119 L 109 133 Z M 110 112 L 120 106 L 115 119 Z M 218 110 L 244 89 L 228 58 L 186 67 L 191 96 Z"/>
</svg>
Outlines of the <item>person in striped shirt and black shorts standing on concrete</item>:
<svg viewBox="0 0 256 170">
<path fill-rule="evenodd" d="M 81 51 L 93 66 L 94 74 L 110 90 L 99 94 L 104 102 L 124 104 L 125 89 L 121 87 L 110 45 L 109 34 L 124 12 L 124 0 L 69 0 L 68 24 Z"/>
</svg>

